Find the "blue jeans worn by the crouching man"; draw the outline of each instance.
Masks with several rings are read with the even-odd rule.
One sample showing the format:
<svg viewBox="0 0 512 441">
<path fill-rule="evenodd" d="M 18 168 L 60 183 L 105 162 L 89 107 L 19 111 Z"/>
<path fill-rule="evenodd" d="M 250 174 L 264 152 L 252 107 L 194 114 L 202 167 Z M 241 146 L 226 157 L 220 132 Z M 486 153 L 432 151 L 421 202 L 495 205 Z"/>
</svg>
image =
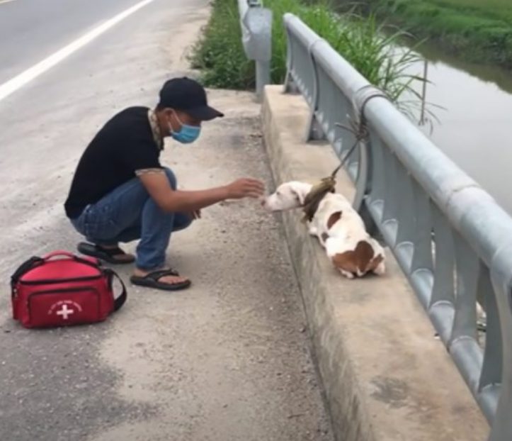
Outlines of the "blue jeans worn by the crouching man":
<svg viewBox="0 0 512 441">
<path fill-rule="evenodd" d="M 176 177 L 164 168 L 172 189 Z M 74 228 L 96 245 L 116 245 L 140 239 L 137 245 L 137 268 L 152 270 L 164 265 L 171 233 L 183 230 L 192 222 L 186 213 L 166 213 L 151 199 L 140 179 L 119 186 L 100 201 L 86 206 L 71 220 Z"/>
</svg>

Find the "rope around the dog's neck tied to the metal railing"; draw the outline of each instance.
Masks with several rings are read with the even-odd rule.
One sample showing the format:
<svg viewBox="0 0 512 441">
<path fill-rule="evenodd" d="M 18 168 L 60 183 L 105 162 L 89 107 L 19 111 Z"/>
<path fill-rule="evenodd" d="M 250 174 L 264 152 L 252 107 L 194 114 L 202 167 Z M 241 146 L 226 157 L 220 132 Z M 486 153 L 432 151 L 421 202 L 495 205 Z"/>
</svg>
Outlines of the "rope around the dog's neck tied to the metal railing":
<svg viewBox="0 0 512 441">
<path fill-rule="evenodd" d="M 371 93 L 368 94 L 368 96 L 365 96 L 361 105 L 358 106 L 358 104 L 356 103 L 358 93 L 364 92 L 367 89 L 369 89 Z M 305 197 L 304 204 L 302 205 L 302 211 L 304 212 L 304 218 L 302 218 L 302 221 L 311 222 L 314 213 L 317 212 L 318 206 L 320 202 L 322 202 L 322 199 L 324 199 L 326 194 L 336 192 L 336 175 L 341 170 L 343 165 L 345 165 L 348 158 L 351 157 L 352 153 L 358 147 L 359 143 L 368 140 L 370 132 L 366 124 L 365 107 L 370 100 L 377 97 L 389 99 L 389 97 L 383 91 L 377 89 L 375 86 L 363 86 L 361 89 L 358 90 L 358 92 L 356 92 L 355 98 L 352 102 L 354 115 L 356 118 L 355 121 L 353 121 L 351 116 L 348 115 L 349 125 L 334 123 L 334 125 L 336 125 L 337 127 L 352 133 L 354 135 L 355 141 L 352 147 L 348 149 L 345 157 L 343 157 L 343 160 L 340 161 L 340 164 L 333 170 L 333 172 L 328 177 L 322 178 L 318 184 L 314 185 L 311 191 L 309 191 L 309 193 Z"/>
</svg>

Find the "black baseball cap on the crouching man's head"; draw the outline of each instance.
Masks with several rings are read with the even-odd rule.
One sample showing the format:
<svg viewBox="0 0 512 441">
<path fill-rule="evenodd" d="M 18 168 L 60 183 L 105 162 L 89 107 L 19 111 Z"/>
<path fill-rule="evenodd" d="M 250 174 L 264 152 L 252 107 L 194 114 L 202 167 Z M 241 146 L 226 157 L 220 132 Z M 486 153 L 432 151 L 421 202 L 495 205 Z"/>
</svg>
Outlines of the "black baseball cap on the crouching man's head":
<svg viewBox="0 0 512 441">
<path fill-rule="evenodd" d="M 208 106 L 205 88 L 187 77 L 169 79 L 164 83 L 160 90 L 159 107 L 183 111 L 198 121 L 224 116 L 224 113 Z"/>
</svg>

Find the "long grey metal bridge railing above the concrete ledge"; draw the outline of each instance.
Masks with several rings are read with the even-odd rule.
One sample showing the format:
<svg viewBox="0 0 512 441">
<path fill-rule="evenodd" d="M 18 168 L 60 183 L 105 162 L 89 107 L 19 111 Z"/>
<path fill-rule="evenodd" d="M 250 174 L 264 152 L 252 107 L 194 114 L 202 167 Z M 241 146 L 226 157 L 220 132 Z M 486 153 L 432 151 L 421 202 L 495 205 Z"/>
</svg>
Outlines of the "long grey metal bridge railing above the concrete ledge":
<svg viewBox="0 0 512 441">
<path fill-rule="evenodd" d="M 354 142 L 336 126 L 357 118 L 377 89 L 299 18 L 285 14 L 285 91 L 311 109 L 338 155 Z M 391 102 L 365 104 L 370 136 L 351 155 L 354 205 L 380 230 L 491 425 L 512 440 L 512 218 Z M 484 349 L 477 300 L 487 312 Z"/>
</svg>

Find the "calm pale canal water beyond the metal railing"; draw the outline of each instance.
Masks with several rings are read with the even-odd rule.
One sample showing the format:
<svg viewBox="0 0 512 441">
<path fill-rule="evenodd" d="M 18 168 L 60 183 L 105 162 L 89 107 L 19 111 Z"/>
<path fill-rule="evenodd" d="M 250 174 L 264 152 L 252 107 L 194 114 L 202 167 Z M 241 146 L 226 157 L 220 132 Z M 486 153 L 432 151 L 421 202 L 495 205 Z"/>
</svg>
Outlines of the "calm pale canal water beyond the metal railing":
<svg viewBox="0 0 512 441">
<path fill-rule="evenodd" d="M 428 60 L 426 101 L 439 123 L 424 130 L 448 157 L 512 215 L 512 72 L 452 59 L 436 48 Z M 423 64 L 414 68 L 423 75 Z"/>
</svg>

